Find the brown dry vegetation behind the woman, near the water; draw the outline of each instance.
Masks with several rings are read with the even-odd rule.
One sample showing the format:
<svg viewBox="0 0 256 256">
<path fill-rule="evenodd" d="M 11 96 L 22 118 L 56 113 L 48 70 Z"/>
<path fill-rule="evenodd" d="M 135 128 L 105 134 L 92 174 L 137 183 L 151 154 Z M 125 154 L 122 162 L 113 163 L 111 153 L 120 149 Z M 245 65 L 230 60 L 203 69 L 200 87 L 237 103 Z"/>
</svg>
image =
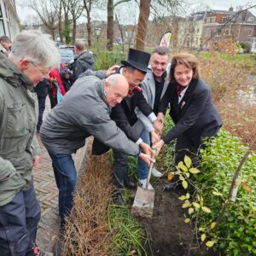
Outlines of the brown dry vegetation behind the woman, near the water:
<svg viewBox="0 0 256 256">
<path fill-rule="evenodd" d="M 224 129 L 236 137 L 241 137 L 243 143 L 249 144 L 256 136 L 255 105 L 243 102 L 238 91 L 247 91 L 249 72 L 241 63 L 223 61 L 218 57 L 212 59 L 200 58 L 201 77 L 212 88 L 213 102 L 223 119 Z"/>
</svg>

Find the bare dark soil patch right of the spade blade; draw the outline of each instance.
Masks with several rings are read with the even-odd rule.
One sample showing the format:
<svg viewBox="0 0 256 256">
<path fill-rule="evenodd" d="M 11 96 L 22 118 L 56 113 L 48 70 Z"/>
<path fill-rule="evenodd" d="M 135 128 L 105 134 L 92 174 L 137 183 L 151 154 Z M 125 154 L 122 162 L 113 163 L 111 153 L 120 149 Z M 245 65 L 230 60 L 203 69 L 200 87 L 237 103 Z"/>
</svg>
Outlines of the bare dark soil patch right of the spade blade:
<svg viewBox="0 0 256 256">
<path fill-rule="evenodd" d="M 178 197 L 185 195 L 185 191 L 181 188 L 165 192 L 162 190 L 165 185 L 163 179 L 154 183 L 153 218 L 137 218 L 150 240 L 148 255 L 210 255 L 208 252 L 201 252 L 191 225 L 184 223 L 185 211 L 181 207 L 183 202 Z"/>
</svg>

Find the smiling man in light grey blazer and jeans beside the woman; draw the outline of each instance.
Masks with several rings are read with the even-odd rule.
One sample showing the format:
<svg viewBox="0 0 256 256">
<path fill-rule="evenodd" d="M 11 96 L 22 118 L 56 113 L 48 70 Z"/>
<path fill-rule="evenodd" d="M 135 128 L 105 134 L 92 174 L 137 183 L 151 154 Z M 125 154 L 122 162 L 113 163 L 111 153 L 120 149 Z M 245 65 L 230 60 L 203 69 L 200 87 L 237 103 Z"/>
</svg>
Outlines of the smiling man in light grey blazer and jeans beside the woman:
<svg viewBox="0 0 256 256">
<path fill-rule="evenodd" d="M 168 54 L 169 50 L 166 47 L 159 46 L 154 49 L 150 59 L 150 67 L 152 71 L 146 74 L 141 85 L 143 96 L 155 114 L 158 113 L 160 99 L 164 96 L 169 83 L 166 79 L 166 68 L 169 60 Z M 154 132 L 154 126 L 151 123 L 149 126 L 145 123 L 144 120 L 147 118 L 139 109 L 137 109 L 137 117 L 139 119 L 137 122 L 142 122 L 145 127 L 140 137 L 143 139 L 144 143 L 150 145 L 150 134 Z M 142 186 L 145 187 L 148 176 L 148 166 L 139 159 L 137 160 L 137 166 L 139 181 Z M 154 177 L 162 176 L 162 174 L 155 168 L 152 169 L 152 175 Z M 150 183 L 148 186 L 152 187 Z"/>
</svg>

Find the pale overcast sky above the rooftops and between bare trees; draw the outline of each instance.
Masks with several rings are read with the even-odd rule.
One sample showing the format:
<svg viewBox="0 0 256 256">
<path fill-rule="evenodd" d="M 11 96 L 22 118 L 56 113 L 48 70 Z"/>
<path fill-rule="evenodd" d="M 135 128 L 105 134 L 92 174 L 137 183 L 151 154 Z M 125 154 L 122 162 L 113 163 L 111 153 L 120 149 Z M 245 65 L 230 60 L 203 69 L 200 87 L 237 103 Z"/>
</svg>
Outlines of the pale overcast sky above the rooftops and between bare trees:
<svg viewBox="0 0 256 256">
<path fill-rule="evenodd" d="M 21 22 L 27 19 L 28 15 L 32 15 L 33 11 L 32 9 L 28 9 L 25 7 L 21 7 L 20 3 L 22 3 L 25 0 L 16 0 L 17 3 L 17 13 L 20 17 Z M 211 9 L 221 9 L 221 10 L 229 10 L 229 8 L 232 6 L 234 10 L 236 10 L 236 6 L 242 6 L 243 9 L 246 9 L 248 6 L 256 5 L 256 0 L 188 0 L 191 4 L 191 11 L 193 9 L 198 10 L 198 7 L 202 4 L 202 6 L 208 5 Z M 253 15 L 256 15 L 256 8 L 249 9 Z M 106 13 L 106 15 L 105 15 Z M 137 14 L 138 15 L 138 14 Z M 104 12 L 104 15 L 98 15 L 101 17 L 105 17 L 104 20 L 107 20 L 107 12 Z M 133 16 L 134 17 L 134 16 Z M 98 20 L 99 18 L 96 17 Z M 83 21 L 85 18 L 83 18 Z M 134 24 L 134 20 L 131 20 L 131 23 Z"/>
</svg>

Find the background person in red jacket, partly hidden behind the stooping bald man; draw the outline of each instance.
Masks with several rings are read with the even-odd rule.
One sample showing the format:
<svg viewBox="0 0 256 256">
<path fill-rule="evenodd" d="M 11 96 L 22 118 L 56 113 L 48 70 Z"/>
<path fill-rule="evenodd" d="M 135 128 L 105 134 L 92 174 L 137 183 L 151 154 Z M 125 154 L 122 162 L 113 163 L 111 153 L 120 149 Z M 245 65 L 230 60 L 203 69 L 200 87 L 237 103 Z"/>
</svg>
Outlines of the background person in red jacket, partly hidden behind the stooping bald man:
<svg viewBox="0 0 256 256">
<path fill-rule="evenodd" d="M 49 102 L 50 108 L 55 108 L 55 106 L 61 101 L 60 96 L 65 96 L 66 91 L 64 85 L 62 84 L 61 74 L 58 68 L 53 68 L 49 72 Z"/>
</svg>

